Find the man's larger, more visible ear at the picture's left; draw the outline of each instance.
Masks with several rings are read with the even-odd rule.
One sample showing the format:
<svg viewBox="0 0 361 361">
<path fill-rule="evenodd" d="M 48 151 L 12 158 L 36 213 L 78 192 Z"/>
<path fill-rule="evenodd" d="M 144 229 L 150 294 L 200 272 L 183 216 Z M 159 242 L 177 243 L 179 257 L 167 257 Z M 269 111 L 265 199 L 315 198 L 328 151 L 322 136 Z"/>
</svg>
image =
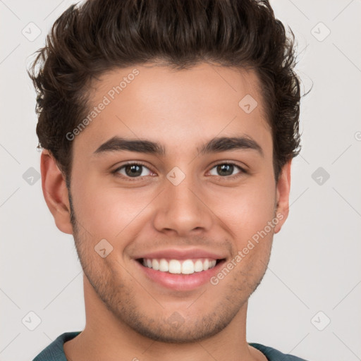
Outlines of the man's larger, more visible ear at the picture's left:
<svg viewBox="0 0 361 361">
<path fill-rule="evenodd" d="M 51 214 L 54 216 L 56 227 L 63 233 L 73 234 L 66 181 L 54 157 L 47 149 L 42 151 L 40 169 L 42 172 L 42 193 Z"/>
</svg>

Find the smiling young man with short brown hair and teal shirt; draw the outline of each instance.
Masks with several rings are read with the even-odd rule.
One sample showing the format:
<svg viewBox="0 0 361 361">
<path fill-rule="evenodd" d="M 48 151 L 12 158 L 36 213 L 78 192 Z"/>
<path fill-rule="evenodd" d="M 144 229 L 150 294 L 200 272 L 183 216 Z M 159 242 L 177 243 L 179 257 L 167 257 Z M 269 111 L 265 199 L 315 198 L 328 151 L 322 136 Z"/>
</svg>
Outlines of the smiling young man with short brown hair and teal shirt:
<svg viewBox="0 0 361 361">
<path fill-rule="evenodd" d="M 268 1 L 90 0 L 56 20 L 30 76 L 86 326 L 35 361 L 301 360 L 245 334 L 288 216 L 294 65 Z"/>
</svg>

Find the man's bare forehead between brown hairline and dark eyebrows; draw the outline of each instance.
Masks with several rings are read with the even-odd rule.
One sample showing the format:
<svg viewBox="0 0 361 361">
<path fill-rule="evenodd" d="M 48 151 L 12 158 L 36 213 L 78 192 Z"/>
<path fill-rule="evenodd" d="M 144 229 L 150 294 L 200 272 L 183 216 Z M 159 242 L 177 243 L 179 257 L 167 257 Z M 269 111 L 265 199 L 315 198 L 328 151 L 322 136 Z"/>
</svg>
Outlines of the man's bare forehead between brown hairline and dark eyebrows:
<svg viewBox="0 0 361 361">
<path fill-rule="evenodd" d="M 216 136 L 271 137 L 252 71 L 208 63 L 181 71 L 130 66 L 93 82 L 89 99 L 90 121 L 75 138 L 75 147 L 81 143 L 87 152 L 114 135 L 161 142 L 169 154 Z"/>
</svg>

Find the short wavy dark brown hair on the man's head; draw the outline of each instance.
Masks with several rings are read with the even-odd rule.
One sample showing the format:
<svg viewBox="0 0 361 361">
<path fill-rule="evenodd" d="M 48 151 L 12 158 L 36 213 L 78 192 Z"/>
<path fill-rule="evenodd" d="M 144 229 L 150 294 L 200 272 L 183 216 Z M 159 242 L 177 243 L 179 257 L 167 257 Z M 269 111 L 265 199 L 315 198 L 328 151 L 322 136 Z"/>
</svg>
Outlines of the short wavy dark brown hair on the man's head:
<svg viewBox="0 0 361 361">
<path fill-rule="evenodd" d="M 90 80 L 114 68 L 202 61 L 252 68 L 273 139 L 276 180 L 300 152 L 300 80 L 292 30 L 267 0 L 88 0 L 54 23 L 28 71 L 37 91 L 37 136 L 70 185 L 71 132 L 87 114 Z"/>
</svg>

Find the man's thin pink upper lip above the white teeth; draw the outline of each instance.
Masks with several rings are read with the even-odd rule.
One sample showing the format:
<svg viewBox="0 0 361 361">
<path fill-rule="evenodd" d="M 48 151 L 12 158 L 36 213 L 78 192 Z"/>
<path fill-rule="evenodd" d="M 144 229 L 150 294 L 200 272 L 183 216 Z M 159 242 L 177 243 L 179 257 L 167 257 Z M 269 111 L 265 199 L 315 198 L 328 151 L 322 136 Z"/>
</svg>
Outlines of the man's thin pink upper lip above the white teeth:
<svg viewBox="0 0 361 361">
<path fill-rule="evenodd" d="M 135 257 L 135 259 L 150 258 L 150 259 L 192 259 L 192 258 L 210 258 L 210 259 L 224 259 L 225 255 L 221 253 L 212 252 L 208 250 L 202 250 L 201 248 L 188 248 L 188 249 L 177 249 L 169 248 L 167 250 L 157 250 L 154 252 L 144 253 Z"/>
</svg>

